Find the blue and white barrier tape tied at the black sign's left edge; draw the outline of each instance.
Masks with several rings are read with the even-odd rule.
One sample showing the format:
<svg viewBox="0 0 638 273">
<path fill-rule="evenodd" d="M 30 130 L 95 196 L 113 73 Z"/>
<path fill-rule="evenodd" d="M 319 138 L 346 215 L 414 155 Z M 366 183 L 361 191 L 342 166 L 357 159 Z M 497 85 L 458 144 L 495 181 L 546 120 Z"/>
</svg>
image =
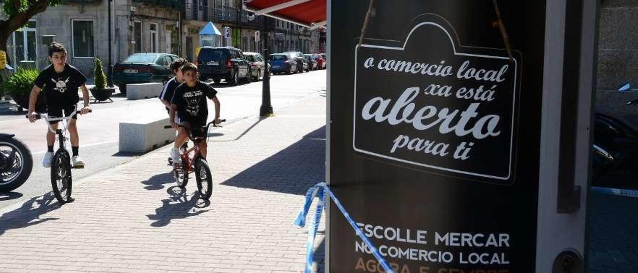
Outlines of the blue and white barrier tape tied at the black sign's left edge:
<svg viewBox="0 0 638 273">
<path fill-rule="evenodd" d="M 348 214 L 346 209 L 343 208 L 343 205 L 341 205 L 341 202 L 339 202 L 337 196 L 334 196 L 334 193 L 330 191 L 330 188 L 324 182 L 318 183 L 308 189 L 308 192 L 306 193 L 306 203 L 304 203 L 304 207 L 299 211 L 297 219 L 295 219 L 295 225 L 299 227 L 304 227 L 304 225 L 306 225 L 306 216 L 308 216 L 308 210 L 310 209 L 315 196 L 319 199 L 319 202 L 317 203 L 315 211 L 315 221 L 313 221 L 308 228 L 308 248 L 306 249 L 306 269 L 304 270 L 304 273 L 313 272 L 312 265 L 313 255 L 315 252 L 315 237 L 317 228 L 319 226 L 319 221 L 321 220 L 321 214 L 323 212 L 323 206 L 325 205 L 326 196 L 332 198 L 332 202 L 337 205 L 337 207 L 341 211 L 341 214 L 343 214 L 346 220 L 348 220 L 350 226 L 352 226 L 352 228 L 355 230 L 355 233 L 363 240 L 366 246 L 371 249 L 372 255 L 375 256 L 376 260 L 383 267 L 383 270 L 385 270 L 385 272 L 387 273 L 394 273 L 394 270 L 392 270 L 390 264 L 385 261 L 383 256 L 381 256 L 381 253 L 379 253 L 378 249 L 376 249 L 375 245 L 372 244 L 372 242 L 366 237 L 366 235 L 364 235 L 357 223 L 350 217 L 350 214 Z"/>
</svg>

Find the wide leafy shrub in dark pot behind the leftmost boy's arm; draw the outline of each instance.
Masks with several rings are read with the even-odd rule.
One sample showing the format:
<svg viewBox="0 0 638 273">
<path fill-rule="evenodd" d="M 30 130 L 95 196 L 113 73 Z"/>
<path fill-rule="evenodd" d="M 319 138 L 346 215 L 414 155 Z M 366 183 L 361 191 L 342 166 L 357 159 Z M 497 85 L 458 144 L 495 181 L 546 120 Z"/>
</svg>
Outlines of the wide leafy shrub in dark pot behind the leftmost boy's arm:
<svg viewBox="0 0 638 273">
<path fill-rule="evenodd" d="M 13 101 L 22 108 L 29 109 L 29 96 L 31 89 L 38 78 L 40 71 L 34 68 L 18 68 L 11 77 L 3 82 L 3 91 L 13 98 Z M 36 112 L 43 113 L 47 111 L 47 102 L 44 92 L 38 95 L 36 102 Z"/>
</svg>

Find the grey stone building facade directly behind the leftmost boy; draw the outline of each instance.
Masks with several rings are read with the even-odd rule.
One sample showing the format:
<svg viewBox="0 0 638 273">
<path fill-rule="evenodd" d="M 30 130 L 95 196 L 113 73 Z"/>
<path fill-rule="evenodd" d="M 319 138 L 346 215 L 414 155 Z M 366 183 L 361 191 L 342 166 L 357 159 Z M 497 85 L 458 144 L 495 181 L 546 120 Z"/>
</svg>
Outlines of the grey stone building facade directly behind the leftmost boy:
<svg viewBox="0 0 638 273">
<path fill-rule="evenodd" d="M 29 20 L 8 40 L 7 54 L 13 67 L 43 69 L 48 66 L 48 45 L 63 43 L 68 51 L 68 63 L 85 75 L 93 75 L 93 58 L 106 65 L 108 59 L 107 0 L 69 0 L 49 7 Z M 126 15 L 127 0 L 114 0 L 112 22 Z M 115 26 L 115 24 L 114 24 Z M 113 32 L 112 39 L 127 40 L 126 32 Z M 117 46 L 114 45 L 114 49 Z M 112 60 L 126 57 L 126 50 L 114 50 Z"/>
</svg>

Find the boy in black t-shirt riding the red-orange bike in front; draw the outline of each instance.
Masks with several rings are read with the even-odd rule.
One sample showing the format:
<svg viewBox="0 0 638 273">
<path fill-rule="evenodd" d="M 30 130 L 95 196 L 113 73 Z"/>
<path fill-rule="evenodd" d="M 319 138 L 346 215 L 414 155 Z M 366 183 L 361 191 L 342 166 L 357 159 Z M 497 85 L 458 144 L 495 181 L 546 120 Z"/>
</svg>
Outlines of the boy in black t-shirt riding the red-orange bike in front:
<svg viewBox="0 0 638 273">
<path fill-rule="evenodd" d="M 219 100 L 216 96 L 217 91 L 210 87 L 205 82 L 197 80 L 197 66 L 195 64 L 184 64 L 182 67 L 182 73 L 184 74 L 184 82 L 179 85 L 173 95 L 170 107 L 170 124 L 173 128 L 177 129 L 175 123 L 175 112 L 179 116 L 179 121 L 182 122 L 184 127 L 191 129 L 194 136 L 206 136 L 202 126 L 206 125 L 208 119 L 208 105 L 206 103 L 206 97 L 212 100 L 215 104 L 215 124 L 219 123 Z M 188 133 L 184 128 L 179 128 L 177 137 L 175 137 L 175 144 L 170 151 L 170 157 L 174 163 L 181 163 L 179 158 L 179 147 L 188 140 Z M 202 156 L 206 158 L 206 142 L 200 142 L 200 151 Z"/>
</svg>

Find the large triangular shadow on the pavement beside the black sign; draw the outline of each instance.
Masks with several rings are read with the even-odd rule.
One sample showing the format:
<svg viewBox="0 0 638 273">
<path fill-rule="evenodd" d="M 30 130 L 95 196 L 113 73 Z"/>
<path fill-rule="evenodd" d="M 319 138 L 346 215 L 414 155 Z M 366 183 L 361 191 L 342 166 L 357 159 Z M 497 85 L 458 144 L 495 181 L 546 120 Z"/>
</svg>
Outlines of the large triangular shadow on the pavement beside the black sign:
<svg viewBox="0 0 638 273">
<path fill-rule="evenodd" d="M 325 181 L 325 126 L 222 182 L 226 186 L 305 195 Z"/>
</svg>

